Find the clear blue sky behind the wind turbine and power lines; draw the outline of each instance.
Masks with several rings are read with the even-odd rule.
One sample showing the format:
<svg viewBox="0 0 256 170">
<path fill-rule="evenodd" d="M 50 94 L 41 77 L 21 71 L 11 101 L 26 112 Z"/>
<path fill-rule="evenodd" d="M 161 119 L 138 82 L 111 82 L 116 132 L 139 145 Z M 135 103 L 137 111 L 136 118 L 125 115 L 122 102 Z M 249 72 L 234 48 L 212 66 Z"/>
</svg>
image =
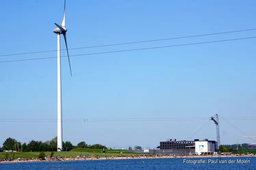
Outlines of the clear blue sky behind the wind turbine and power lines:
<svg viewBox="0 0 256 170">
<path fill-rule="evenodd" d="M 57 50 L 54 22 L 63 0 L 3 0 L 0 55 Z M 68 48 L 256 28 L 255 1 L 66 1 Z M 256 31 L 69 50 L 70 55 L 254 37 Z M 61 36 L 61 49 L 65 49 Z M 62 118 L 253 117 L 255 39 L 70 57 L 62 66 Z M 0 61 L 54 57 L 57 52 L 0 56 Z M 67 55 L 61 51 L 61 55 Z M 1 119 L 57 119 L 57 58 L 0 63 Z M 108 147 L 186 140 L 208 120 L 63 121 L 63 140 Z M 254 120 L 228 120 L 255 136 Z M 255 143 L 220 120 L 222 144 Z M 57 122 L 1 122 L 0 146 L 50 140 Z M 210 121 L 190 139 L 216 140 Z M 256 140 L 256 139 L 254 139 Z"/>
</svg>

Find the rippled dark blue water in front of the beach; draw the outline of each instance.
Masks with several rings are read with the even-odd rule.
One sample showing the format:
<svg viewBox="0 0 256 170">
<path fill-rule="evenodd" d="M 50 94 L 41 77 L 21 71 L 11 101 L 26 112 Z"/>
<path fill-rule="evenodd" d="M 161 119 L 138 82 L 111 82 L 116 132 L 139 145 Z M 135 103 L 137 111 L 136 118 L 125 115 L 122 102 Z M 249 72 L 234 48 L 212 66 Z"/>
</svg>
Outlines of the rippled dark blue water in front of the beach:
<svg viewBox="0 0 256 170">
<path fill-rule="evenodd" d="M 186 159 L 186 158 L 185 158 Z M 190 160 L 200 160 L 194 158 Z M 231 157 L 222 158 L 227 160 L 227 164 L 209 164 L 209 158 L 202 158 L 207 164 L 187 164 L 183 163 L 184 158 L 164 158 L 164 159 L 126 159 L 126 160 L 86 160 L 73 162 L 43 162 L 43 163 L 17 163 L 0 164 L 0 170 L 180 170 L 180 169 L 203 169 L 203 170 L 255 170 L 255 157 Z M 250 160 L 250 164 L 229 164 L 228 160 L 245 159 Z M 189 160 L 189 159 L 187 159 Z M 212 160 L 216 160 L 213 158 Z M 144 161 L 144 163 L 143 163 Z"/>
</svg>

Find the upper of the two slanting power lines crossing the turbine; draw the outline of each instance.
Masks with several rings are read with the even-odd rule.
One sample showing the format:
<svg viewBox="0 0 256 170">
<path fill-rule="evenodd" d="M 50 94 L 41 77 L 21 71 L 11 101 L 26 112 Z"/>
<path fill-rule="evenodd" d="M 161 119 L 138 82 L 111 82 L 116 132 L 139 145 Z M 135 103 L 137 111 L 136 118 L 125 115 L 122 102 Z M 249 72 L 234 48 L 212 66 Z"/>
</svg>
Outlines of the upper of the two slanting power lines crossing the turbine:
<svg viewBox="0 0 256 170">
<path fill-rule="evenodd" d="M 96 47 L 107 47 L 107 46 L 117 46 L 117 45 L 127 45 L 127 44 L 136 44 L 136 43 L 146 43 L 146 42 L 152 42 L 152 41 L 163 41 L 163 40 L 171 40 L 171 39 L 191 38 L 191 37 L 200 37 L 200 36 L 217 35 L 217 34 L 227 34 L 227 33 L 243 32 L 243 31 L 253 31 L 253 30 L 256 30 L 256 29 L 238 30 L 238 31 L 229 31 L 229 32 L 221 32 L 221 33 L 202 34 L 202 35 L 193 35 L 193 36 L 185 36 L 185 37 L 175 37 L 175 38 L 165 38 L 165 39 L 155 39 L 155 40 L 137 41 L 137 42 L 130 42 L 130 43 L 110 44 L 110 45 L 101 45 L 101 46 L 71 48 L 71 49 L 68 49 L 68 50 L 77 50 L 77 49 L 85 49 L 85 48 L 96 48 Z M 65 50 L 65 49 L 63 49 L 63 50 Z M 5 54 L 5 55 L 0 55 L 0 56 L 34 54 L 34 53 L 44 53 L 44 52 L 53 52 L 53 51 L 58 51 L 58 50 L 37 51 L 37 52 L 27 52 L 27 53 L 17 53 L 17 54 Z M 62 50 L 60 50 L 60 51 L 62 51 Z"/>
</svg>

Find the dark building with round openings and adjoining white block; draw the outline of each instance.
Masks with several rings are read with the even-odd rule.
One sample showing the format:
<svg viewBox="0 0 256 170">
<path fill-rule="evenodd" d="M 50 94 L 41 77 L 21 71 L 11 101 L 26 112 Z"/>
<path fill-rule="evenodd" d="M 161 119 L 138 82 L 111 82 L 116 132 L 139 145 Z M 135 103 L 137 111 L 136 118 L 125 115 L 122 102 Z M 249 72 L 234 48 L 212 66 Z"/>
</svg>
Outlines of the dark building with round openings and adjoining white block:
<svg viewBox="0 0 256 170">
<path fill-rule="evenodd" d="M 171 150 L 182 154 L 210 155 L 217 154 L 218 145 L 214 140 L 195 139 L 193 141 L 167 139 L 160 142 L 160 150 Z"/>
</svg>

